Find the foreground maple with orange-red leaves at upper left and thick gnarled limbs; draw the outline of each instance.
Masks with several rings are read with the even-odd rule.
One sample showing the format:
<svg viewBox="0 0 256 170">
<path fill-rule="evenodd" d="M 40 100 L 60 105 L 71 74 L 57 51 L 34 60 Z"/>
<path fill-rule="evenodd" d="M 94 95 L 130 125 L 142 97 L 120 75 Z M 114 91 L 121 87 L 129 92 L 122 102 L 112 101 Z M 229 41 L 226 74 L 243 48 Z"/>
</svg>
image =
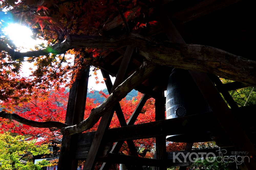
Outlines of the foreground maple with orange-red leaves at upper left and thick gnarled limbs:
<svg viewBox="0 0 256 170">
<path fill-rule="evenodd" d="M 224 78 L 255 85 L 255 74 L 253 74 L 255 62 L 251 60 L 208 46 L 172 44 L 131 33 L 131 30 L 144 29 L 157 23 L 154 17 L 154 7 L 156 5 L 157 2 L 151 0 L 44 1 L 43 3 L 35 3 L 30 0 L 1 1 L 1 8 L 7 11 L 6 16 L 12 15 L 12 18 L 28 25 L 35 31 L 34 36 L 42 36 L 48 41 L 48 44 L 46 44 L 47 47 L 37 46 L 34 51 L 19 52 L 19 48 L 8 37 L 1 36 L 0 99 L 13 99 L 16 102 L 22 102 L 30 100 L 35 89 L 58 88 L 61 84 L 69 86 L 79 77 L 81 70 L 89 65 L 100 66 L 100 56 L 104 56 L 109 50 L 125 45 L 138 47 L 139 50 L 137 51 L 145 58 L 145 62 L 138 71 L 134 72 L 130 79 L 123 83 L 123 86 L 126 86 L 129 82 L 133 82 L 131 84 L 133 87 L 139 84 L 151 74 L 157 65 L 207 71 Z M 3 18 L 2 27 L 5 22 L 5 18 Z M 107 32 L 106 30 L 110 30 L 111 27 L 121 28 L 120 34 L 117 36 L 116 33 Z M 182 55 L 180 55 L 180 51 L 182 51 Z M 202 53 L 202 51 L 207 51 L 207 53 Z M 161 55 L 159 55 L 160 53 Z M 69 57 L 67 54 L 75 55 L 74 65 L 67 61 Z M 169 58 L 170 55 L 173 57 Z M 211 56 L 212 60 L 217 62 L 191 67 L 191 62 L 181 63 L 185 61 L 181 58 L 187 56 L 197 61 Z M 231 58 L 235 59 L 231 60 Z M 32 71 L 31 76 L 33 78 L 19 76 L 20 67 L 24 61 L 33 62 L 37 66 Z M 221 63 L 221 68 L 217 66 L 219 63 Z M 241 70 L 241 65 L 246 69 Z M 225 70 L 233 71 L 227 72 Z M 144 72 L 143 78 L 140 72 Z M 69 84 L 68 80 L 70 79 Z M 137 79 L 140 79 L 140 81 L 136 81 Z M 99 83 L 99 81 L 97 80 L 96 83 Z M 132 88 L 126 89 L 122 93 L 119 93 L 119 90 L 114 91 L 113 94 L 119 94 L 118 97 L 113 100 L 113 97 L 110 96 L 108 101 L 118 102 L 129 90 L 132 90 Z M 61 132 L 74 134 L 90 129 L 104 114 L 100 111 L 103 107 L 110 108 L 109 102 L 105 102 L 94 109 L 91 112 L 91 115 L 94 116 L 89 116 L 80 129 L 65 127 Z M 94 111 L 97 111 L 97 113 Z"/>
</svg>

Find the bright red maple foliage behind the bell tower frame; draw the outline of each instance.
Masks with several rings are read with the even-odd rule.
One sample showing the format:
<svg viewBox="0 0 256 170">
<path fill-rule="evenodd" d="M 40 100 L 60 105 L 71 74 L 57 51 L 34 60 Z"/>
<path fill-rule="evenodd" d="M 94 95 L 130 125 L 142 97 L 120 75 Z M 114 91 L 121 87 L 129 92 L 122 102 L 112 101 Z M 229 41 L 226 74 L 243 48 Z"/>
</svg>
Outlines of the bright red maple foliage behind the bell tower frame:
<svg viewBox="0 0 256 170">
<path fill-rule="evenodd" d="M 108 98 L 104 92 L 99 92 L 103 97 Z M 45 121 L 65 121 L 66 107 L 68 101 L 69 92 L 65 88 L 59 88 L 59 90 L 46 91 L 41 90 L 34 94 L 33 100 L 29 102 L 24 101 L 17 106 L 15 102 L 6 101 L 2 103 L 2 107 L 13 114 L 17 114 L 27 119 L 45 122 Z M 135 110 L 138 102 L 142 98 L 142 94 L 138 93 L 132 100 L 126 100 L 125 98 L 120 101 L 121 108 L 124 113 L 126 121 L 130 118 L 131 114 Z M 141 114 L 138 116 L 135 124 L 152 122 L 155 120 L 155 100 L 150 98 L 145 103 Z M 84 117 L 88 117 L 92 108 L 98 106 L 100 103 L 94 103 L 94 99 L 87 98 Z M 47 143 L 51 140 L 60 141 L 62 135 L 57 128 L 37 128 L 29 125 L 20 124 L 13 120 L 1 120 L 1 133 L 4 131 L 10 131 L 12 133 L 18 133 L 21 135 L 30 135 L 31 139 L 39 138 L 37 144 Z M 95 131 L 99 122 L 97 122 L 93 128 L 88 131 Z M 110 128 L 120 127 L 118 117 L 113 116 Z M 139 155 L 143 157 L 153 158 L 153 150 L 155 145 L 155 138 L 135 140 L 135 147 L 139 149 Z M 172 143 L 167 146 L 167 151 L 182 150 L 185 144 Z M 123 154 L 129 154 L 129 148 L 124 143 L 121 151 Z"/>
</svg>

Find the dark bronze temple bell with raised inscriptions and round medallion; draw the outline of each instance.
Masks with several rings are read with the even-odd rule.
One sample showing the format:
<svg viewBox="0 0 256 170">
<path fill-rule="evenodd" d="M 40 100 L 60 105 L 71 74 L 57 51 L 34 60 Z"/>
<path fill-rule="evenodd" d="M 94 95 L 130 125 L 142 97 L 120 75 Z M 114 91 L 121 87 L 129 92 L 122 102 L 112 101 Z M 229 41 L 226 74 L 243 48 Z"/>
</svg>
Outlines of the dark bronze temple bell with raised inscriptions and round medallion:
<svg viewBox="0 0 256 170">
<path fill-rule="evenodd" d="M 166 119 L 206 113 L 211 111 L 193 78 L 187 70 L 174 68 L 169 77 L 166 93 Z M 212 141 L 210 132 L 200 133 L 200 125 L 195 125 L 194 134 L 167 136 L 172 142 Z"/>
</svg>

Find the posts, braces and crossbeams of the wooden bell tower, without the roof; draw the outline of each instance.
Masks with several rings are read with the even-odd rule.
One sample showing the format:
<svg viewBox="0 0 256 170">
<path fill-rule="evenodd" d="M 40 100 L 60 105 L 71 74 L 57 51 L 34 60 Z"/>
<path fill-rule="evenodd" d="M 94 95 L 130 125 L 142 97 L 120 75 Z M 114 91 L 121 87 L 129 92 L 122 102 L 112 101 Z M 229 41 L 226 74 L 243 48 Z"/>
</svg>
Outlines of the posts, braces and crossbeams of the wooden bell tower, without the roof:
<svg viewBox="0 0 256 170">
<path fill-rule="evenodd" d="M 197 19 L 198 17 L 207 15 L 216 10 L 228 7 L 239 1 L 211 1 L 206 0 L 198 3 L 197 5 L 189 8 L 191 13 L 194 11 L 196 14 L 195 18 L 187 18 L 186 21 Z M 164 3 L 166 3 L 164 1 Z M 183 11 L 184 13 L 186 11 Z M 158 11 L 159 27 L 155 28 L 155 31 L 162 29 L 165 32 L 166 38 L 169 41 L 176 43 L 185 43 L 184 39 L 180 35 L 179 31 L 170 20 L 168 12 Z M 185 15 L 185 14 L 184 14 Z M 154 33 L 153 33 L 154 34 Z M 127 46 L 126 50 L 118 49 L 116 52 L 122 55 L 122 61 L 119 69 L 114 70 L 107 64 L 101 67 L 103 77 L 107 78 L 105 81 L 108 92 L 111 93 L 116 87 L 118 87 L 126 78 L 129 76 L 131 69 L 131 62 L 136 61 L 135 48 Z M 252 155 L 256 155 L 254 143 L 248 138 L 247 133 L 243 129 L 244 122 L 238 121 L 237 117 L 243 113 L 244 116 L 241 118 L 243 121 L 248 121 L 248 114 L 255 109 L 255 106 L 238 107 L 236 102 L 232 99 L 228 93 L 229 90 L 239 89 L 245 87 L 239 82 L 232 82 L 222 84 L 220 79 L 215 75 L 209 75 L 202 72 L 189 71 L 193 77 L 195 83 L 200 89 L 202 95 L 208 102 L 212 109 L 211 113 L 192 115 L 186 117 L 180 117 L 175 119 L 165 119 L 165 97 L 164 88 L 157 86 L 154 83 L 155 77 L 150 77 L 148 86 L 141 84 L 135 87 L 144 95 L 138 103 L 136 109 L 132 113 L 128 122 L 125 121 L 120 104 L 113 106 L 113 109 L 105 113 L 101 120 L 99 127 L 96 132 L 82 133 L 73 136 L 63 136 L 62 147 L 59 158 L 59 169 L 76 169 L 78 160 L 86 160 L 83 170 L 94 169 L 97 161 L 104 162 L 101 169 L 109 169 L 113 163 L 126 164 L 130 169 L 142 169 L 143 165 L 155 166 L 159 170 L 166 169 L 167 166 L 180 166 L 180 169 L 186 169 L 186 166 L 190 162 L 172 162 L 172 153 L 166 152 L 166 135 L 175 135 L 180 133 L 192 133 L 189 127 L 198 123 L 200 126 L 212 126 L 217 127 L 221 131 L 225 132 L 228 139 L 231 141 L 231 147 L 225 148 L 227 151 L 241 150 L 250 151 Z M 116 79 L 112 85 L 109 74 L 115 75 Z M 76 80 L 70 90 L 66 124 L 74 125 L 79 123 L 83 119 L 83 113 L 86 103 L 86 94 L 88 86 L 89 70 L 84 71 L 84 79 Z M 166 84 L 167 85 L 167 84 Z M 223 95 L 231 109 L 228 107 L 226 102 L 223 100 Z M 153 97 L 155 99 L 155 122 L 134 125 L 138 115 L 140 114 L 144 104 L 148 98 Z M 116 112 L 118 120 L 120 122 L 120 128 L 109 129 L 109 125 L 112 116 Z M 212 115 L 214 115 L 212 117 Z M 255 115 L 250 115 L 250 118 L 255 118 Z M 207 119 L 211 119 L 209 122 L 205 122 Z M 185 120 L 189 120 L 187 124 L 183 124 Z M 169 126 L 176 126 L 176 129 L 170 129 Z M 230 128 L 232 127 L 232 128 Z M 156 159 L 148 159 L 139 157 L 133 140 L 142 138 L 156 137 Z M 118 152 L 122 147 L 123 142 L 126 141 L 130 149 L 131 155 L 120 155 Z M 114 146 L 112 146 L 112 143 Z M 192 149 L 193 143 L 187 143 L 186 151 L 189 152 Z M 213 152 L 216 149 L 207 149 L 205 152 Z M 194 151 L 193 152 L 198 152 Z M 256 162 L 251 159 L 250 162 L 244 162 L 247 169 L 256 169 Z"/>
</svg>

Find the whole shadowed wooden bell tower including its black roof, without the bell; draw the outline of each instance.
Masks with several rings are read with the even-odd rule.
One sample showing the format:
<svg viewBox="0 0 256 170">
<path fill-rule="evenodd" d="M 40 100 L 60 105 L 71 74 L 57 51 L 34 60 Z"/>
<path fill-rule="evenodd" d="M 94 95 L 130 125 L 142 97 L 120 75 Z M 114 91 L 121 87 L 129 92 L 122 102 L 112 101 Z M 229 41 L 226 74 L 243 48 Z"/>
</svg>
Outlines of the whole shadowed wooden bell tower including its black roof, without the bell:
<svg viewBox="0 0 256 170">
<path fill-rule="evenodd" d="M 255 60 L 255 18 L 252 1 L 239 0 L 163 0 L 156 5 L 154 14 L 155 25 L 143 30 L 135 30 L 145 37 L 153 37 L 181 44 L 201 44 L 216 47 L 244 58 Z M 129 21 L 128 21 L 128 24 Z M 120 32 L 115 18 L 105 25 L 107 35 Z M 124 30 L 123 30 L 124 31 Z M 122 32 L 120 32 L 121 34 Z M 139 49 L 127 46 L 106 54 L 99 63 L 106 87 L 111 93 L 127 77 L 143 64 Z M 205 61 L 207 62 L 207 61 Z M 198 63 L 202 64 L 202 63 Z M 228 151 L 250 151 L 252 159 L 244 162 L 247 169 L 256 169 L 254 156 L 256 150 L 255 137 L 255 107 L 238 107 L 228 91 L 247 87 L 238 81 L 222 84 L 213 74 L 189 71 L 200 92 L 212 111 L 209 113 L 165 119 L 165 96 L 169 75 L 173 68 L 159 67 L 146 81 L 134 87 L 144 93 L 128 122 L 125 121 L 119 104 L 105 113 L 95 132 L 82 133 L 73 136 L 63 136 L 58 169 L 76 169 L 78 160 L 86 160 L 84 170 L 94 169 L 97 161 L 104 162 L 101 169 L 109 169 L 111 164 L 126 164 L 128 169 L 142 169 L 142 166 L 155 166 L 159 170 L 168 166 L 181 166 L 186 169 L 189 161 L 173 162 L 173 154 L 166 152 L 166 136 L 193 133 L 195 124 L 204 127 L 202 130 L 210 133 L 219 146 Z M 109 75 L 115 76 L 112 85 Z M 88 70 L 84 72 L 89 76 Z M 75 125 L 81 122 L 84 114 L 87 81 L 76 80 L 70 90 L 66 124 Z M 83 91 L 81 93 L 81 91 Z M 223 95 L 227 103 L 223 100 Z M 155 99 L 155 122 L 134 125 L 137 116 L 148 98 Z M 109 129 L 112 116 L 116 112 L 120 128 Z M 175 128 L 172 128 L 175 127 Z M 232 128 L 230 128 L 232 127 Z M 133 140 L 156 138 L 156 159 L 138 157 Z M 196 139 L 195 139 L 196 140 Z M 131 155 L 118 154 L 123 142 L 126 141 Z M 114 143 L 113 147 L 112 144 Z M 204 142 L 204 141 L 202 141 Z M 193 141 L 187 141 L 184 153 L 192 149 Z M 200 152 L 216 152 L 217 149 L 206 149 Z M 193 150 L 193 152 L 198 152 Z M 181 158 L 182 159 L 182 158 Z"/>
</svg>

